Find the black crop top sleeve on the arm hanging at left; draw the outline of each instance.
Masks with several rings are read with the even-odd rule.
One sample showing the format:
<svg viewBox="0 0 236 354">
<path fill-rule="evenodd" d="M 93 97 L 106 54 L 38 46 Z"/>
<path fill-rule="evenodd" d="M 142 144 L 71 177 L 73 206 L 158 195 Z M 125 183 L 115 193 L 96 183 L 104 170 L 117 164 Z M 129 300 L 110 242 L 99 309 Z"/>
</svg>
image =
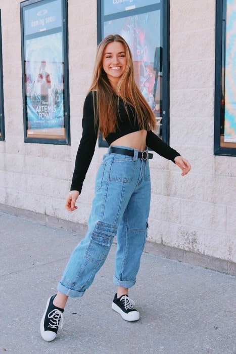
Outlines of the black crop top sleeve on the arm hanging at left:
<svg viewBox="0 0 236 354">
<path fill-rule="evenodd" d="M 75 169 L 72 177 L 71 191 L 81 193 L 83 181 L 95 151 L 98 131 L 95 129 L 92 93 L 84 101 L 82 118 L 82 138 L 75 159 Z"/>
</svg>

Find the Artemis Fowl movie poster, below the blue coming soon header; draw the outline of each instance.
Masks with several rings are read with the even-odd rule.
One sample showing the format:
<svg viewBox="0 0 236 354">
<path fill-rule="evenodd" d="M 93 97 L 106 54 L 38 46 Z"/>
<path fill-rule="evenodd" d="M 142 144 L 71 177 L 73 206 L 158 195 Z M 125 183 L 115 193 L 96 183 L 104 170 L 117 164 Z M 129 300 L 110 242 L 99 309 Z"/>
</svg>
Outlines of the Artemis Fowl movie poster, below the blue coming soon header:
<svg viewBox="0 0 236 354">
<path fill-rule="evenodd" d="M 64 136 L 62 53 L 61 32 L 25 41 L 28 134 L 44 129 L 44 134 Z"/>
</svg>

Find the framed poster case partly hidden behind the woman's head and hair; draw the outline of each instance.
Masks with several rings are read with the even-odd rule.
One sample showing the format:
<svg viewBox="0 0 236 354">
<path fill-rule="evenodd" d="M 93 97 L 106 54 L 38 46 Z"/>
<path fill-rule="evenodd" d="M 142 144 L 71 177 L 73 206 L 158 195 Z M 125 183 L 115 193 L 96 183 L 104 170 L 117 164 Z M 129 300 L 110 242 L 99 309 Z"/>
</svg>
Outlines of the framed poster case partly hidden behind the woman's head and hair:
<svg viewBox="0 0 236 354">
<path fill-rule="evenodd" d="M 98 1 L 101 10 L 99 42 L 111 33 L 118 33 L 127 41 L 136 82 L 156 116 L 158 128 L 155 133 L 166 142 L 169 99 L 167 3 L 161 0 Z M 100 146 L 106 146 L 104 139 L 100 139 Z"/>
</svg>

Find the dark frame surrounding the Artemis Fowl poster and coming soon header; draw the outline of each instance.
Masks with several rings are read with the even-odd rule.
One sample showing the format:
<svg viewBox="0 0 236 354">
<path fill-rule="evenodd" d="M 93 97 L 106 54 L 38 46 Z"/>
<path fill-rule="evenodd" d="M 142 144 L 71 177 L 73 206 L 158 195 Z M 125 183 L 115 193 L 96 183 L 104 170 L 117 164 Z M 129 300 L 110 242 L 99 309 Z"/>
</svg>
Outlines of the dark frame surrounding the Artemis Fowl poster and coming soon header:
<svg viewBox="0 0 236 354">
<path fill-rule="evenodd" d="M 69 64 L 68 64 L 68 0 L 62 1 L 62 28 L 63 28 L 63 58 L 64 58 L 64 127 L 65 139 L 57 138 L 31 138 L 27 137 L 27 112 L 25 99 L 25 38 L 24 38 L 24 23 L 23 23 L 23 8 L 45 0 L 25 0 L 20 3 L 20 19 L 21 19 L 21 55 L 22 55 L 22 95 L 23 95 L 23 118 L 24 118 L 24 142 L 38 144 L 53 144 L 53 145 L 70 145 L 70 104 L 69 104 Z M 55 0 L 48 0 L 51 3 Z"/>
</svg>

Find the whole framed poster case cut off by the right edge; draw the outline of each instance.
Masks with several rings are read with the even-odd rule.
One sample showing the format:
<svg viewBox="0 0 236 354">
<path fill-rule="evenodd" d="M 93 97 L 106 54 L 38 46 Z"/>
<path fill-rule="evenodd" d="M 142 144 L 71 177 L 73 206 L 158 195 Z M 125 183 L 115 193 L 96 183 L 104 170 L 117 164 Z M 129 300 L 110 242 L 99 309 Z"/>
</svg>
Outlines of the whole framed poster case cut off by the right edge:
<svg viewBox="0 0 236 354">
<path fill-rule="evenodd" d="M 216 7 L 216 74 L 214 152 L 236 155 L 236 2 Z"/>
</svg>

